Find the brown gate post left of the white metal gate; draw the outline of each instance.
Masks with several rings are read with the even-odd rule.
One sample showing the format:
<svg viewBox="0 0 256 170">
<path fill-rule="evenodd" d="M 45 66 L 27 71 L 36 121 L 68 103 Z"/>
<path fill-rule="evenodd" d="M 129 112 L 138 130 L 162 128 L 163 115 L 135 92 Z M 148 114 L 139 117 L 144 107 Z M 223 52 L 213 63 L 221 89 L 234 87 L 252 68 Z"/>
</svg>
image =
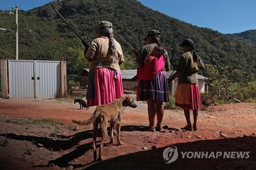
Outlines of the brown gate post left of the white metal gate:
<svg viewBox="0 0 256 170">
<path fill-rule="evenodd" d="M 0 61 L 1 65 L 1 79 L 2 79 L 2 95 L 7 98 L 8 95 L 8 78 L 7 78 L 7 60 L 1 59 Z"/>
</svg>

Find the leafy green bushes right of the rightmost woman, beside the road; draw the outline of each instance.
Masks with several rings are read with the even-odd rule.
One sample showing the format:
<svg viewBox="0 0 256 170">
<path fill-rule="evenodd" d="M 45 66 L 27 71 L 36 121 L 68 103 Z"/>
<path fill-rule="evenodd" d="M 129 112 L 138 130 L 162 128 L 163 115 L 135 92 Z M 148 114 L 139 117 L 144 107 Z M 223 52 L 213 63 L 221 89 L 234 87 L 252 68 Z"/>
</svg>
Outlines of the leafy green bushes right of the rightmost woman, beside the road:
<svg viewBox="0 0 256 170">
<path fill-rule="evenodd" d="M 245 75 L 245 71 L 238 69 L 230 71 L 227 66 L 220 69 L 217 69 L 216 65 L 206 64 L 205 66 L 210 81 L 211 96 L 219 96 L 217 98 L 219 104 L 226 104 L 226 101 L 231 103 L 231 100 L 235 102 L 255 100 L 256 83 Z M 203 98 L 206 97 L 203 96 Z"/>
</svg>

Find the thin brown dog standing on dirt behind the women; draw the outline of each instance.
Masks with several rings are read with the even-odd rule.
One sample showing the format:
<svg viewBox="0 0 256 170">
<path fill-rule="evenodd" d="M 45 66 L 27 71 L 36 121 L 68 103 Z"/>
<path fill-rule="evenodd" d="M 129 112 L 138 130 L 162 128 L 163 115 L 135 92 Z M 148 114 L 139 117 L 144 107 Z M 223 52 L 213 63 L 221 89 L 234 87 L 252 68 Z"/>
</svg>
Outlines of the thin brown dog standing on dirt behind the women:
<svg viewBox="0 0 256 170">
<path fill-rule="evenodd" d="M 118 144 L 123 144 L 123 142 L 121 142 L 120 140 L 120 128 L 121 128 L 121 119 L 123 117 L 123 109 L 126 106 L 130 106 L 132 108 L 137 107 L 131 95 L 124 95 L 120 99 L 116 99 L 109 104 L 97 106 L 92 117 L 89 118 L 88 120 L 83 120 L 83 121 L 72 120 L 72 122 L 78 125 L 90 125 L 91 123 L 93 123 L 94 161 L 103 160 L 101 153 L 102 153 L 103 143 L 107 134 L 106 129 L 109 122 L 110 122 L 110 142 L 111 143 L 115 142 L 114 135 L 113 135 L 113 125 L 116 120 L 117 141 L 118 141 Z M 97 137 L 98 125 L 100 126 L 100 130 L 101 130 L 99 158 L 97 158 L 97 153 L 96 153 L 96 137 Z"/>
</svg>

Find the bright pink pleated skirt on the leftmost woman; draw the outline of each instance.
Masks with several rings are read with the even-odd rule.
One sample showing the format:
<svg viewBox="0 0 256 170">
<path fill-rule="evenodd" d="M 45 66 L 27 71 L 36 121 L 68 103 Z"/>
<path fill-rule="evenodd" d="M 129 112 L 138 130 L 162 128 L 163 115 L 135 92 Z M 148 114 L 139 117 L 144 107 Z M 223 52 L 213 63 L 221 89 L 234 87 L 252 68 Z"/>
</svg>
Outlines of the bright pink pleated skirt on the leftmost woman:
<svg viewBox="0 0 256 170">
<path fill-rule="evenodd" d="M 121 72 L 109 68 L 94 69 L 94 98 L 87 100 L 87 106 L 99 106 L 111 103 L 123 96 L 123 85 Z"/>
</svg>

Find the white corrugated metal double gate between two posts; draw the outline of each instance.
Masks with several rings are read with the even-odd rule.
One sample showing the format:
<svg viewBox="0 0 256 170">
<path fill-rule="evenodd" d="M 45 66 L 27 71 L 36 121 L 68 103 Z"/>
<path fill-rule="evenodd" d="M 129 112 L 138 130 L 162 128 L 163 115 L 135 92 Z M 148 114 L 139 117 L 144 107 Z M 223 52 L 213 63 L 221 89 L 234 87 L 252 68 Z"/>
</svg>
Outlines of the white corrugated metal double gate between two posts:
<svg viewBox="0 0 256 170">
<path fill-rule="evenodd" d="M 10 99 L 54 98 L 60 91 L 60 62 L 9 60 Z"/>
</svg>

